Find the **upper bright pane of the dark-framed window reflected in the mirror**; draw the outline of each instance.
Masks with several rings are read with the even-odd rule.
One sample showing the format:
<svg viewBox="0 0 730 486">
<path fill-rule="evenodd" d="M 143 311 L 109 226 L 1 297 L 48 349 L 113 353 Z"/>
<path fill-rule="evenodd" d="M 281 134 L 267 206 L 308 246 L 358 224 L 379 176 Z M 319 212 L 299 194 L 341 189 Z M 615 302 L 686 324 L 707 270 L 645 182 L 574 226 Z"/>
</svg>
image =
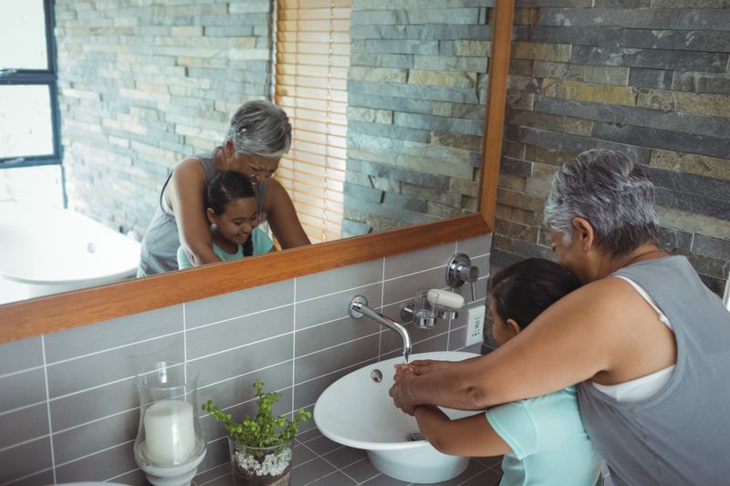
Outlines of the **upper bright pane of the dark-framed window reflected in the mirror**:
<svg viewBox="0 0 730 486">
<path fill-rule="evenodd" d="M 0 69 L 48 68 L 45 16 L 42 0 L 0 0 Z"/>
</svg>

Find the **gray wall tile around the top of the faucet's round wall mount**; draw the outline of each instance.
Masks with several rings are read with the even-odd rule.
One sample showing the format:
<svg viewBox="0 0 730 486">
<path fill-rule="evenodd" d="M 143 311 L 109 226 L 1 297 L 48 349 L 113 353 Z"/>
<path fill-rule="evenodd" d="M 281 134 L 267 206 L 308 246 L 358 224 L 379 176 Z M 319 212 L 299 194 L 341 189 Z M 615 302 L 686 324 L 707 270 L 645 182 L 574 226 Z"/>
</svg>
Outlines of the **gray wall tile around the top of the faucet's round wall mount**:
<svg viewBox="0 0 730 486">
<path fill-rule="evenodd" d="M 349 301 L 355 295 L 362 295 L 368 299 L 370 307 L 380 307 L 382 284 L 371 284 L 337 294 L 297 302 L 297 330 L 347 317 L 349 315 Z"/>
</svg>

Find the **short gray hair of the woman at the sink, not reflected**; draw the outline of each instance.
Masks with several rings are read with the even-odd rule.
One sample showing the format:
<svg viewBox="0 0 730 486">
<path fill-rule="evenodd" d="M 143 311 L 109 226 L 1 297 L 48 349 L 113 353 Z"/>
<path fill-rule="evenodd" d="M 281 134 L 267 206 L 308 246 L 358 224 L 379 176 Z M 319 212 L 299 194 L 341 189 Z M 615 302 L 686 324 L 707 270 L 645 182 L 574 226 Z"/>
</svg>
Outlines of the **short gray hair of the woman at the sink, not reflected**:
<svg viewBox="0 0 730 486">
<path fill-rule="evenodd" d="M 573 218 L 588 220 L 596 243 L 621 256 L 642 243 L 660 244 L 654 185 L 641 167 L 611 150 L 588 150 L 569 160 L 552 181 L 545 223 L 570 243 Z"/>
</svg>

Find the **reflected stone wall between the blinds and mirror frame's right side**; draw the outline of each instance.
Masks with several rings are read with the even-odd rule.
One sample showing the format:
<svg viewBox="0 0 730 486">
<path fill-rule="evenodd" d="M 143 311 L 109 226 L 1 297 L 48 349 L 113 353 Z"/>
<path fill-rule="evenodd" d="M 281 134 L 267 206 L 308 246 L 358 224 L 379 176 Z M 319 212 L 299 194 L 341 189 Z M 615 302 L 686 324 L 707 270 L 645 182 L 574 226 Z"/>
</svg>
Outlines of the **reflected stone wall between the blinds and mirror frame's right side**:
<svg viewBox="0 0 730 486">
<path fill-rule="evenodd" d="M 491 0 L 352 0 L 342 235 L 476 210 Z"/>
</svg>

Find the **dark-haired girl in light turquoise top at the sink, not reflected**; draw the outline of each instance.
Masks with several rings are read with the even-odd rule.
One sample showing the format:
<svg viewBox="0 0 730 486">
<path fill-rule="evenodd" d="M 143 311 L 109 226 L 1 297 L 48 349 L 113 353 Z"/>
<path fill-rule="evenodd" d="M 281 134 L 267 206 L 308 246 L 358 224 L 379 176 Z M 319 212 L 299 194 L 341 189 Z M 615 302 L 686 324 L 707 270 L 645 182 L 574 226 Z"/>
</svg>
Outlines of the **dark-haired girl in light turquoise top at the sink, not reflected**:
<svg viewBox="0 0 730 486">
<path fill-rule="evenodd" d="M 504 345 L 579 285 L 573 274 L 547 260 L 530 258 L 506 267 L 493 278 L 489 295 L 496 343 Z M 444 454 L 504 454 L 501 486 L 602 482 L 602 460 L 580 421 L 575 387 L 465 419 L 451 420 L 430 405 L 416 407 L 414 415 L 423 436 Z"/>
</svg>

